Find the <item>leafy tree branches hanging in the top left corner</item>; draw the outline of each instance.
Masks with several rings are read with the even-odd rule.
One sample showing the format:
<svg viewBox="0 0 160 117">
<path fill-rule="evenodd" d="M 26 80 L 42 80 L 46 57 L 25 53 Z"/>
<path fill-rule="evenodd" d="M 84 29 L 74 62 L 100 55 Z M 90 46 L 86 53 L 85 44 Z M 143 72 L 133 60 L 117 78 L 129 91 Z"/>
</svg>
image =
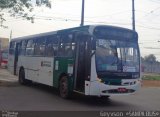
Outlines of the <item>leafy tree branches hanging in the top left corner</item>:
<svg viewBox="0 0 160 117">
<path fill-rule="evenodd" d="M 0 27 L 6 28 L 3 22 L 6 21 L 4 18 L 3 10 L 10 13 L 12 17 L 19 16 L 34 22 L 34 17 L 29 16 L 29 12 L 33 11 L 33 0 L 0 0 Z M 46 7 L 51 8 L 51 1 L 49 0 L 36 0 L 37 6 L 46 5 Z"/>
</svg>

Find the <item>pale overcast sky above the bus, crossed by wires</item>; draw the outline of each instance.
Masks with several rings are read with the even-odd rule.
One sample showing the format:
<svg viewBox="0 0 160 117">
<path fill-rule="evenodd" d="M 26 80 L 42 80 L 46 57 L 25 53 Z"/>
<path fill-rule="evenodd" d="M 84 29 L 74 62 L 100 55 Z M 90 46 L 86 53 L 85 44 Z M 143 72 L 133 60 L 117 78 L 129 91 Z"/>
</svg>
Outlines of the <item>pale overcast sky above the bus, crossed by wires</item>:
<svg viewBox="0 0 160 117">
<path fill-rule="evenodd" d="M 35 23 L 9 17 L 0 37 L 12 38 L 80 25 L 82 0 L 52 0 L 52 8 L 35 7 Z M 85 0 L 84 25 L 104 24 L 132 29 L 132 0 Z M 135 0 L 135 23 L 141 55 L 154 54 L 160 61 L 160 0 Z"/>
</svg>

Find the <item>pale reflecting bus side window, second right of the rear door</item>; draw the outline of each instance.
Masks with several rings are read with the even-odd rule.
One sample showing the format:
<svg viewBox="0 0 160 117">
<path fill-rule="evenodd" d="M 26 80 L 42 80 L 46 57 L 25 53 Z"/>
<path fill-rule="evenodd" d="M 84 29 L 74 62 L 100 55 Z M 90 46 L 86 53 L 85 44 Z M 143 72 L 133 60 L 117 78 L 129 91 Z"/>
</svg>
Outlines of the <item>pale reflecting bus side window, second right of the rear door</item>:
<svg viewBox="0 0 160 117">
<path fill-rule="evenodd" d="M 34 41 L 29 40 L 26 47 L 26 55 L 33 55 L 34 54 Z"/>
</svg>

